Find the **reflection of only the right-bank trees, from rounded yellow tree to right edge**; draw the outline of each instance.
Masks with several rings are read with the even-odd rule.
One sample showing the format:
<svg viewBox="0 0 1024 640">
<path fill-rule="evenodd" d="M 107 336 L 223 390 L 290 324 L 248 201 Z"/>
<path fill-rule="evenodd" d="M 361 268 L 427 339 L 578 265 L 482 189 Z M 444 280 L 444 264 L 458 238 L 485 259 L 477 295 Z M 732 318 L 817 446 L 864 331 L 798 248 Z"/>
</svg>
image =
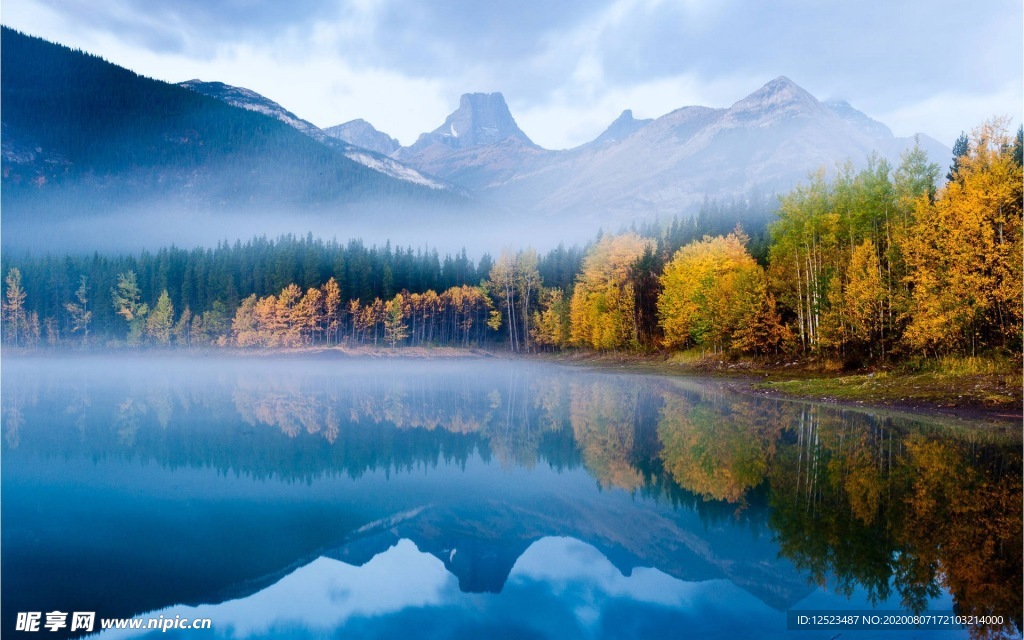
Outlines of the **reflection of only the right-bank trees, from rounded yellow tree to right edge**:
<svg viewBox="0 0 1024 640">
<path fill-rule="evenodd" d="M 767 484 L 781 555 L 819 585 L 913 611 L 940 593 L 1021 628 L 1021 457 L 984 433 L 810 404 L 666 398 L 665 467 L 683 488 L 742 504 Z"/>
</svg>

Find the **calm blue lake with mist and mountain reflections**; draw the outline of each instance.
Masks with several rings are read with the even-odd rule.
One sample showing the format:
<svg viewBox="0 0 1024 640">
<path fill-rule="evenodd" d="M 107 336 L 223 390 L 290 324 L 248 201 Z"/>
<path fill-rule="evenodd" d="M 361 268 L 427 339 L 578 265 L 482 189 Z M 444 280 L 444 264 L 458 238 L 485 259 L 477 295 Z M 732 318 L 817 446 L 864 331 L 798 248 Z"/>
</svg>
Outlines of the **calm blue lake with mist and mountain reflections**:
<svg viewBox="0 0 1024 640">
<path fill-rule="evenodd" d="M 497 358 L 6 357 L 2 392 L 8 638 L 1020 635 L 1019 432 Z M 953 611 L 989 624 L 793 627 Z"/>
</svg>

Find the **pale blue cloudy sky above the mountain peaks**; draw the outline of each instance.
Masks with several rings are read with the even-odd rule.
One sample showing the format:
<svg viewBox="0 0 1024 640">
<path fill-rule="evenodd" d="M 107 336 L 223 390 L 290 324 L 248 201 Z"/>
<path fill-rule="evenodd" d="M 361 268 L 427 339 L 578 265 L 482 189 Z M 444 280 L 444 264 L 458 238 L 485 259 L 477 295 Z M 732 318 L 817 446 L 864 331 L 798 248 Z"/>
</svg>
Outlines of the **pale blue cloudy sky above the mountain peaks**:
<svg viewBox="0 0 1024 640">
<path fill-rule="evenodd" d="M 469 91 L 536 142 L 728 106 L 776 76 L 947 145 L 1021 121 L 1020 0 L 3 0 L 0 20 L 140 74 L 248 87 L 321 127 L 403 144 Z"/>
</svg>

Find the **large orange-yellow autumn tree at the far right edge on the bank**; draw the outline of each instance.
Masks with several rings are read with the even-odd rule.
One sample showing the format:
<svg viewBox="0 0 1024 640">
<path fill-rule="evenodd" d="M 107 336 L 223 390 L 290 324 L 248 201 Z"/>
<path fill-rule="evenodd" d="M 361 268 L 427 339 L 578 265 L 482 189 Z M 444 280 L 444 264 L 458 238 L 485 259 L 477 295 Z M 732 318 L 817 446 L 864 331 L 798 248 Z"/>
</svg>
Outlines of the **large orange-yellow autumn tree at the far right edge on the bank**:
<svg viewBox="0 0 1024 640">
<path fill-rule="evenodd" d="M 935 202 L 904 239 L 912 289 L 907 344 L 933 354 L 1021 346 L 1021 166 L 1006 120 L 976 129 Z"/>
</svg>

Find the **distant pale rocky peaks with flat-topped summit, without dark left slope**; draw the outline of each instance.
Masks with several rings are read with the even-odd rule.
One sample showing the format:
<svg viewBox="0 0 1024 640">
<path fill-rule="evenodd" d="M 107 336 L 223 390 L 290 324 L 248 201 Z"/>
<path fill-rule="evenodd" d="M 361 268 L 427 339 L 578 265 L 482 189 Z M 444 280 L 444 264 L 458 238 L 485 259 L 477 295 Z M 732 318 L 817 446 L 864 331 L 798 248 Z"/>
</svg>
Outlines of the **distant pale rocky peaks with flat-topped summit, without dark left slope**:
<svg viewBox="0 0 1024 640">
<path fill-rule="evenodd" d="M 493 122 L 502 125 L 459 126 Z M 918 141 L 934 162 L 949 157 L 928 136 Z M 862 165 L 872 153 L 897 165 L 913 144 L 849 103 L 821 102 L 779 77 L 728 109 L 684 106 L 651 120 L 627 110 L 593 141 L 557 152 L 515 126 L 501 94 L 470 94 L 394 156 L 527 210 L 628 222 L 686 213 L 706 197 L 788 190 L 821 167 Z"/>
</svg>

